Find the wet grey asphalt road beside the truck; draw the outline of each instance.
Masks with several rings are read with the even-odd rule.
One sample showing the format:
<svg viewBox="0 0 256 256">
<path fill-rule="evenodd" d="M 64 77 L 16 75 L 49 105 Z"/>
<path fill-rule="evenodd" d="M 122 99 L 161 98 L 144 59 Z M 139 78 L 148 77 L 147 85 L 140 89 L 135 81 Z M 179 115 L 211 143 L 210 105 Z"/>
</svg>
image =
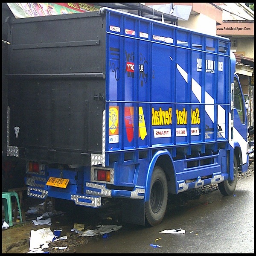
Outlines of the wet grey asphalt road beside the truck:
<svg viewBox="0 0 256 256">
<path fill-rule="evenodd" d="M 160 233 L 179 228 L 186 233 Z M 168 210 L 160 225 L 123 226 L 76 247 L 76 253 L 254 253 L 254 175 L 239 180 L 233 196 L 219 190 L 202 195 Z"/>
</svg>

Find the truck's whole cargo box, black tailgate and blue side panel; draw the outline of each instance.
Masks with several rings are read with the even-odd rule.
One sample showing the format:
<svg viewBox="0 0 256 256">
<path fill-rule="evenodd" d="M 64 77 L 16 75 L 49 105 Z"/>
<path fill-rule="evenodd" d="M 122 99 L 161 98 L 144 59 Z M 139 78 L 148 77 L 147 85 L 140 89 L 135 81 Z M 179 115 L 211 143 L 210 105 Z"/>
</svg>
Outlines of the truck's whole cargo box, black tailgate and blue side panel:
<svg viewBox="0 0 256 256">
<path fill-rule="evenodd" d="M 12 20 L 20 157 L 85 165 L 103 150 L 227 141 L 229 40 L 161 25 L 99 12 Z"/>
</svg>

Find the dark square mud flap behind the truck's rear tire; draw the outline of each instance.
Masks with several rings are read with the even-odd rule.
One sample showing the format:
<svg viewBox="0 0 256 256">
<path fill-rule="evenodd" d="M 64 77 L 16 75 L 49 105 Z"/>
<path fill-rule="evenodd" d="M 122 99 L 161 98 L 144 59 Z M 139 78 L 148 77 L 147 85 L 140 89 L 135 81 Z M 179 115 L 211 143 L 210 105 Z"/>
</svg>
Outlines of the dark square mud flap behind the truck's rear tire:
<svg viewBox="0 0 256 256">
<path fill-rule="evenodd" d="M 145 225 L 144 200 L 122 199 L 122 221 L 131 224 Z"/>
</svg>

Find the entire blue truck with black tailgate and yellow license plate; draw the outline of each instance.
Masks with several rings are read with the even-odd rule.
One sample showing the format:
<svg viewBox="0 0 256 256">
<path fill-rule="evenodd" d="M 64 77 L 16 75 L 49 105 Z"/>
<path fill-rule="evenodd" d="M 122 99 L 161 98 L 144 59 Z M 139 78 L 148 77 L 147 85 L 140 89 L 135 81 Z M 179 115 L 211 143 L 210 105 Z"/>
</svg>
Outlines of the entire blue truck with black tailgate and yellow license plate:
<svg viewBox="0 0 256 256">
<path fill-rule="evenodd" d="M 228 38 L 102 8 L 9 24 L 9 145 L 29 197 L 122 204 L 154 226 L 169 194 L 248 170 L 247 116 Z"/>
</svg>

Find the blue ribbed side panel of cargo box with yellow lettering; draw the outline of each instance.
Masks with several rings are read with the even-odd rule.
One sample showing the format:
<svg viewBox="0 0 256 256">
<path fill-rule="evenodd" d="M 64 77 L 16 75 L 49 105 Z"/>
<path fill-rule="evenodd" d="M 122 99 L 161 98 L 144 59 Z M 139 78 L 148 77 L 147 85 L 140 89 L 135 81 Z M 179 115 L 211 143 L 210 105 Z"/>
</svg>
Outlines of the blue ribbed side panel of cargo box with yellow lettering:
<svg viewBox="0 0 256 256">
<path fill-rule="evenodd" d="M 106 116 L 114 113 L 106 134 L 116 141 L 107 154 L 192 143 L 204 151 L 205 142 L 227 141 L 229 39 L 108 10 L 106 17 Z"/>
</svg>

